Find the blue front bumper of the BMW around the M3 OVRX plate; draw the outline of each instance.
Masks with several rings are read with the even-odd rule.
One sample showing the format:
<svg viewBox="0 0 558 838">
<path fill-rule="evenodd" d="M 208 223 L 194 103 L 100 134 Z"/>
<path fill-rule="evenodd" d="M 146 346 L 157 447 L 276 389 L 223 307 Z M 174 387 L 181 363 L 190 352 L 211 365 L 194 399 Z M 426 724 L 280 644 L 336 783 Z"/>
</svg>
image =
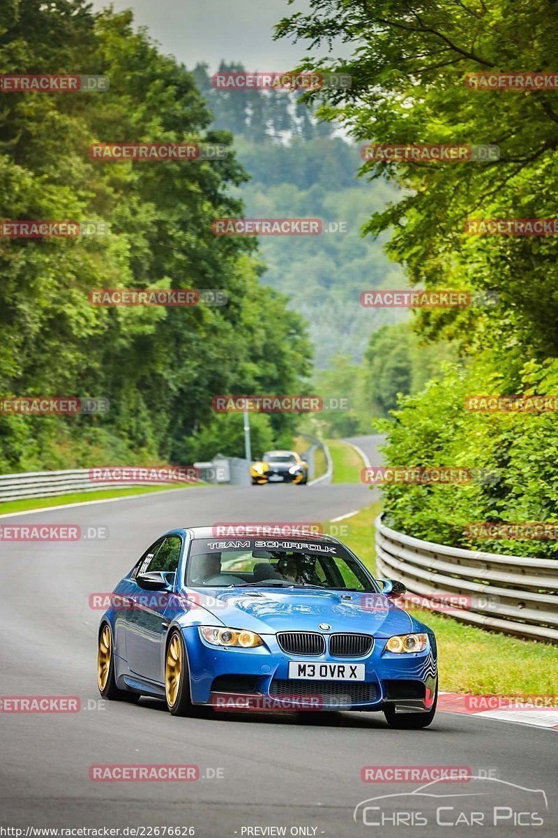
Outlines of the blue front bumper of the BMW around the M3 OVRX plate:
<svg viewBox="0 0 558 838">
<path fill-rule="evenodd" d="M 438 675 L 436 644 L 430 634 L 431 642 L 424 652 L 384 652 L 387 638 L 376 638 L 369 654 L 350 659 L 328 653 L 288 654 L 279 647 L 274 634 L 262 634 L 264 645 L 256 649 L 211 646 L 200 638 L 197 627 L 183 629 L 183 634 L 194 704 L 218 706 L 223 696 L 255 696 L 264 706 L 272 707 L 275 702 L 293 710 L 305 703 L 312 705 L 310 709 L 323 710 L 373 711 L 397 706 L 406 711 L 428 711 L 433 704 Z M 365 680 L 289 679 L 291 661 L 364 664 Z"/>
</svg>

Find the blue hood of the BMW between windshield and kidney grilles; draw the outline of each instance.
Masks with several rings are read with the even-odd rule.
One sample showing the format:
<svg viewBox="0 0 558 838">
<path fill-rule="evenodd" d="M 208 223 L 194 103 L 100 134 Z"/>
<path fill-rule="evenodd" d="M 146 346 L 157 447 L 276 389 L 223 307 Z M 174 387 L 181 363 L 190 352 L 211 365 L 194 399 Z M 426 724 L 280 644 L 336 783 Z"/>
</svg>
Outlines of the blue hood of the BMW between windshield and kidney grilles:
<svg viewBox="0 0 558 838">
<path fill-rule="evenodd" d="M 250 629 L 257 634 L 278 631 L 319 631 L 319 623 L 328 623 L 332 632 L 357 632 L 391 637 L 424 630 L 407 612 L 379 594 L 373 603 L 365 594 L 351 593 L 342 598 L 339 591 L 300 589 L 205 588 L 197 590 L 197 602 L 232 629 Z M 329 630 L 329 629 L 328 629 Z"/>
</svg>

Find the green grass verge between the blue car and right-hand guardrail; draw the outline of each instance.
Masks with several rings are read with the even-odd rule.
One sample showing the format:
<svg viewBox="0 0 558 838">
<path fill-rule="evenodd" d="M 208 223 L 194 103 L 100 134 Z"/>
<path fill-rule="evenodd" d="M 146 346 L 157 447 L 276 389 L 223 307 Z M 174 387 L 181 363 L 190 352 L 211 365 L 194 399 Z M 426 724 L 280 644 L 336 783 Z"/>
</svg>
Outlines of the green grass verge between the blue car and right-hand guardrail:
<svg viewBox="0 0 558 838">
<path fill-rule="evenodd" d="M 350 534 L 340 535 L 375 572 L 374 525 L 381 504 L 376 502 L 342 521 Z M 436 634 L 440 690 L 472 695 L 555 695 L 558 683 L 558 646 L 522 640 L 460 623 L 425 609 L 412 611 Z"/>
</svg>

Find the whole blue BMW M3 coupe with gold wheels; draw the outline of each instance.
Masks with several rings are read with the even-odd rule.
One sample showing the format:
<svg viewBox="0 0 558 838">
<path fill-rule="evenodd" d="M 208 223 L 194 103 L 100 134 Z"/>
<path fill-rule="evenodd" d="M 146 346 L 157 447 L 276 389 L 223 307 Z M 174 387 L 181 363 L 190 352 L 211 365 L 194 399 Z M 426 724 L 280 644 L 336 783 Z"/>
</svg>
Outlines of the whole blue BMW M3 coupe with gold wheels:
<svg viewBox="0 0 558 838">
<path fill-rule="evenodd" d="M 100 694 L 161 698 L 173 716 L 197 705 L 382 711 L 391 727 L 427 727 L 436 640 L 397 607 L 404 592 L 330 535 L 172 530 L 110 597 Z"/>
</svg>

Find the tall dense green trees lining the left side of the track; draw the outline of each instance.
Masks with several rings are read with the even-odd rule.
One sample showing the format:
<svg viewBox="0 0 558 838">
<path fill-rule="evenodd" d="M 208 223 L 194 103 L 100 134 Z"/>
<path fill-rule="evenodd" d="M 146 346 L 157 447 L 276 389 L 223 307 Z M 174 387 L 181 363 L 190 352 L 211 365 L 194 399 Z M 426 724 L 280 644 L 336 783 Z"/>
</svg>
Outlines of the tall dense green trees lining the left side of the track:
<svg viewBox="0 0 558 838">
<path fill-rule="evenodd" d="M 3 472 L 168 462 L 212 424 L 212 396 L 297 392 L 308 374 L 304 324 L 259 285 L 254 241 L 212 233 L 215 218 L 243 215 L 233 189 L 247 176 L 232 152 L 176 163 L 89 158 L 92 142 L 135 139 L 231 151 L 231 134 L 209 129 L 192 75 L 132 24 L 130 12 L 94 14 L 82 0 L 21 0 L 0 24 L 10 72 L 110 76 L 105 93 L 0 98 L 0 217 L 110 227 L 89 238 L 0 238 L 0 392 L 110 401 L 106 416 L 0 416 Z M 100 287 L 221 289 L 228 304 L 99 308 L 88 292 Z M 293 420 L 271 425 L 280 434 Z"/>
</svg>

